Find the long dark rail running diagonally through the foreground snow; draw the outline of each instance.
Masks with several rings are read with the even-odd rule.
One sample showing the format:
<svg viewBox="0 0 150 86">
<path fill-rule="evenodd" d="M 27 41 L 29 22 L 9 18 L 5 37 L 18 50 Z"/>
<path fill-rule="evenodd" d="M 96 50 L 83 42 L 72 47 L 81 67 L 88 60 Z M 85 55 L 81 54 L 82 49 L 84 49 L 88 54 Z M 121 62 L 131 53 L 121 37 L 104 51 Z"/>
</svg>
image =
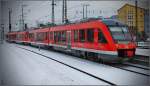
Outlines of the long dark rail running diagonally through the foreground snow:
<svg viewBox="0 0 150 86">
<path fill-rule="evenodd" d="M 93 77 L 93 78 L 96 78 L 96 79 L 98 79 L 98 80 L 100 80 L 100 81 L 103 81 L 103 82 L 105 82 L 105 83 L 107 83 L 107 84 L 109 84 L 109 85 L 117 85 L 117 84 L 112 83 L 112 82 L 110 82 L 110 81 L 104 80 L 104 79 L 102 79 L 102 78 L 100 78 L 100 77 L 97 77 L 97 76 L 95 76 L 95 75 L 93 75 L 93 74 L 91 74 L 91 73 L 88 73 L 88 72 L 86 72 L 86 71 L 83 71 L 83 70 L 81 70 L 81 69 L 78 69 L 78 68 L 76 68 L 76 67 L 73 67 L 73 66 L 71 66 L 71 65 L 68 65 L 68 64 L 66 64 L 66 63 L 64 63 L 64 62 L 58 61 L 58 60 L 56 60 L 56 59 L 53 59 L 53 58 L 51 58 L 51 57 L 49 57 L 49 56 L 46 56 L 46 55 L 37 53 L 37 52 L 35 52 L 35 51 L 29 50 L 29 49 L 26 49 L 26 48 L 22 48 L 22 47 L 18 47 L 18 48 L 24 49 L 24 50 L 26 50 L 26 51 L 32 52 L 32 53 L 34 53 L 34 54 L 37 54 L 37 55 L 43 56 L 43 57 L 45 57 L 45 58 L 47 58 L 47 59 L 53 60 L 53 61 L 55 61 L 55 62 L 58 62 L 58 63 L 60 63 L 60 64 L 62 64 L 62 65 L 65 65 L 65 66 L 67 66 L 67 67 L 69 67 L 69 68 L 72 68 L 72 69 L 77 70 L 77 71 L 79 71 L 79 72 L 81 72 L 81 73 L 84 73 L 84 74 L 87 74 L 87 75 L 89 75 L 89 76 L 91 76 L 91 77 Z"/>
</svg>

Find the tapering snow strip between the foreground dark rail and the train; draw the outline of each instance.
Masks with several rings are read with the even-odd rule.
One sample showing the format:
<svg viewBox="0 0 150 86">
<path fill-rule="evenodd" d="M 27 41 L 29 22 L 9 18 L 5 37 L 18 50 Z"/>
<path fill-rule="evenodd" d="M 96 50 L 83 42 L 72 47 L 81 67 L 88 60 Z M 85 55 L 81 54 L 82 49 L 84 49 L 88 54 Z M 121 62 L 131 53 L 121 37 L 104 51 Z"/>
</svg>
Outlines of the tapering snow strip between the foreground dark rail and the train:
<svg viewBox="0 0 150 86">
<path fill-rule="evenodd" d="M 14 46 L 21 46 L 21 45 L 12 44 L 12 47 Z M 118 85 L 143 85 L 143 84 L 146 85 L 148 84 L 149 77 L 145 77 L 143 75 L 131 73 L 125 70 L 106 66 L 103 64 L 98 64 L 92 61 L 87 61 L 84 59 L 76 58 L 73 56 L 65 55 L 62 53 L 54 52 L 54 51 L 48 51 L 48 50 L 39 51 L 37 48 L 33 48 L 29 46 L 21 46 L 21 47 L 25 47 L 30 50 L 36 51 L 38 53 L 49 56 L 51 58 L 57 59 L 59 61 L 62 61 L 71 66 L 84 70 L 88 73 L 92 73 L 100 78 L 103 78 L 107 81 L 111 81 Z"/>
</svg>

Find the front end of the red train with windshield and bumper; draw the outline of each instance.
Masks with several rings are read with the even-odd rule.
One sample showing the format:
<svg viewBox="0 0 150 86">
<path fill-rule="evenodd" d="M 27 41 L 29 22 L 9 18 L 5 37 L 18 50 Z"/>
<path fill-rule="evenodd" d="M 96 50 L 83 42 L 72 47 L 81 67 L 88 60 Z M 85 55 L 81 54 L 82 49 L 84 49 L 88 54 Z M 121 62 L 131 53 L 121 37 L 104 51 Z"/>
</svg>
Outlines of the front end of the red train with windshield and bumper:
<svg viewBox="0 0 150 86">
<path fill-rule="evenodd" d="M 117 51 L 117 58 L 113 60 L 122 62 L 134 58 L 136 44 L 132 39 L 128 27 L 116 21 L 111 21 L 111 23 L 109 21 L 109 24 L 107 24 L 107 27 L 115 44 L 114 47 Z"/>
</svg>

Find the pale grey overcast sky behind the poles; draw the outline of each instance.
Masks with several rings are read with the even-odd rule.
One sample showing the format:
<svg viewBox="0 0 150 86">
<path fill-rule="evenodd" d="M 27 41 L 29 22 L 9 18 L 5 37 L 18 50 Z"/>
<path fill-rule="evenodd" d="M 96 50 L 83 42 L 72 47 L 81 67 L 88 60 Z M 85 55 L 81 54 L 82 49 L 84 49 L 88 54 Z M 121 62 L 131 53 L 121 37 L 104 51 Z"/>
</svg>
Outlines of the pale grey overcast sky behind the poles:
<svg viewBox="0 0 150 86">
<path fill-rule="evenodd" d="M 140 7 L 146 8 L 148 0 L 138 1 Z M 57 0 L 55 6 L 55 21 L 61 23 L 62 18 L 62 1 Z M 135 4 L 134 0 L 118 1 L 68 1 L 68 19 L 71 21 L 82 18 L 82 5 L 89 4 L 88 17 L 110 17 L 117 14 L 117 9 L 125 3 Z M 5 28 L 8 28 L 8 8 L 12 8 L 12 28 L 19 30 L 19 20 L 21 19 L 21 4 L 24 4 L 24 19 L 29 27 L 35 27 L 37 22 L 51 22 L 51 1 L 7 1 L 3 3 L 5 11 L 3 12 L 3 21 Z"/>
</svg>

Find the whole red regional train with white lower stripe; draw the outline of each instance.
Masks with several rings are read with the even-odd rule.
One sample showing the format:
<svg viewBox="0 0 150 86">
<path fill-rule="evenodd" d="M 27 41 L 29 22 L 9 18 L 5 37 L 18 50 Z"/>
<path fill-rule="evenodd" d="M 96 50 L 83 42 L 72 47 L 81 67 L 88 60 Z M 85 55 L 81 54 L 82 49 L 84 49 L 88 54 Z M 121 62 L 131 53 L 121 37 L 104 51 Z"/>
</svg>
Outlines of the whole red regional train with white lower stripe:
<svg viewBox="0 0 150 86">
<path fill-rule="evenodd" d="M 134 57 L 136 44 L 125 24 L 112 19 L 9 32 L 7 41 L 46 46 L 85 58 L 120 62 Z"/>
</svg>

